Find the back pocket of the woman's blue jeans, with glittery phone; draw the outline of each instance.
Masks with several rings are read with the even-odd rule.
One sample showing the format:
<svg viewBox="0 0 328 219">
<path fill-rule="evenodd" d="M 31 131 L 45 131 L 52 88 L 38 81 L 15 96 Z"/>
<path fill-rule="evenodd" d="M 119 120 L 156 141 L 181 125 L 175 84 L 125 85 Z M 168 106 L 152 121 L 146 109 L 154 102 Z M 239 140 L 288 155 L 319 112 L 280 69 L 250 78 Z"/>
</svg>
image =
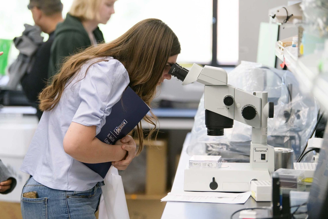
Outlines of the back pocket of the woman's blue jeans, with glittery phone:
<svg viewBox="0 0 328 219">
<path fill-rule="evenodd" d="M 47 219 L 48 218 L 48 198 L 21 198 L 21 210 L 23 219 Z"/>
</svg>

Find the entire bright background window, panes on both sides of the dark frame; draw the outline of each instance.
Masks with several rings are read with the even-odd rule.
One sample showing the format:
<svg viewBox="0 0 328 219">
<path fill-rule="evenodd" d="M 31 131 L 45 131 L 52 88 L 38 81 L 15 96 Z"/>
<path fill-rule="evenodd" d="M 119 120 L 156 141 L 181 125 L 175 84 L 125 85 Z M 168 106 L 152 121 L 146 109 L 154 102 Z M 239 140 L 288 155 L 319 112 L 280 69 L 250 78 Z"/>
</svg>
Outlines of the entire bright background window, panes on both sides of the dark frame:
<svg viewBox="0 0 328 219">
<path fill-rule="evenodd" d="M 63 15 L 73 0 L 62 0 Z M 3 1 L 0 7 L 0 38 L 20 36 L 24 23 L 33 25 L 29 0 Z M 180 63 L 212 62 L 212 10 L 210 0 L 118 0 L 115 14 L 106 25 L 100 25 L 109 42 L 145 18 L 158 18 L 167 23 L 181 43 Z M 238 60 L 238 0 L 218 0 L 217 59 L 219 64 L 236 64 Z M 44 34 L 45 40 L 47 34 Z M 11 58 L 17 56 L 12 50 Z"/>
</svg>

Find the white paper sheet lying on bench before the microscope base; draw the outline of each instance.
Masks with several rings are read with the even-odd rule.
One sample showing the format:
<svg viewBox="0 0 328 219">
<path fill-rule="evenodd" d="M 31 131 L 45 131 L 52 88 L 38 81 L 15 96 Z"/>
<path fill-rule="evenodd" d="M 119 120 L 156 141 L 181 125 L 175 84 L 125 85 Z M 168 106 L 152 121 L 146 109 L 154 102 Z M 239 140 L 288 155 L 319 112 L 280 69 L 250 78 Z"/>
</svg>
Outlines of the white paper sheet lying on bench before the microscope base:
<svg viewBox="0 0 328 219">
<path fill-rule="evenodd" d="M 251 192 L 226 193 L 226 192 L 169 192 L 161 199 L 162 202 L 204 202 L 204 203 L 224 203 L 243 204 L 250 197 Z"/>
</svg>

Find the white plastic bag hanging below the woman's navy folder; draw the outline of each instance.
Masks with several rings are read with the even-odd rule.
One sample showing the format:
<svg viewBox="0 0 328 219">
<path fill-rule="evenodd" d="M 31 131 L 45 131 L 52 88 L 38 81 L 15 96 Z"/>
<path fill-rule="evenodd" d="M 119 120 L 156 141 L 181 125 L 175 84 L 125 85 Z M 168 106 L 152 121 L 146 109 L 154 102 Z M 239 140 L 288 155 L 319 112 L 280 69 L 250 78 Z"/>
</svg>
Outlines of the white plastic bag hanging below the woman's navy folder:
<svg viewBox="0 0 328 219">
<path fill-rule="evenodd" d="M 108 170 L 101 187 L 99 219 L 130 219 L 122 178 L 114 166 Z"/>
</svg>

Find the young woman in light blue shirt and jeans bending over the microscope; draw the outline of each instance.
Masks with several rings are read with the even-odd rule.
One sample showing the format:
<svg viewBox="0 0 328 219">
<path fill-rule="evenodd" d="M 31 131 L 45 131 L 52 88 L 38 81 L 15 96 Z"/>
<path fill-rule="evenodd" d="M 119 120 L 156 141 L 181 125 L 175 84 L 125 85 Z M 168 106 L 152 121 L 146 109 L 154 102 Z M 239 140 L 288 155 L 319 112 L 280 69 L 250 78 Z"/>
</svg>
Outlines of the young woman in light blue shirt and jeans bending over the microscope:
<svg viewBox="0 0 328 219">
<path fill-rule="evenodd" d="M 32 177 L 23 188 L 37 198 L 21 198 L 24 219 L 95 218 L 103 178 L 83 163 L 112 161 L 126 169 L 141 152 L 131 136 L 107 145 L 95 136 L 111 107 L 130 86 L 147 104 L 180 53 L 174 32 L 161 20 L 146 19 L 121 37 L 75 54 L 40 94 L 44 111 L 21 170 Z M 146 116 L 155 124 L 155 116 Z"/>
</svg>

